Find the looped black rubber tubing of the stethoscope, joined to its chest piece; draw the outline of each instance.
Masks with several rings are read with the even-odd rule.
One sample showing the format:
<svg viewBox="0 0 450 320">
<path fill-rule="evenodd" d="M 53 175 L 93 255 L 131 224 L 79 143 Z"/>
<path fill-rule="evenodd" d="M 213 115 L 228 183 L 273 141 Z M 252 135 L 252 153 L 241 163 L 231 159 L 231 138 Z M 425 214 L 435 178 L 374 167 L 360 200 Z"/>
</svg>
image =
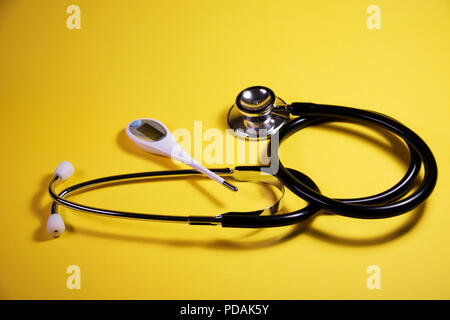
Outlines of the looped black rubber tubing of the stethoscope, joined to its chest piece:
<svg viewBox="0 0 450 320">
<path fill-rule="evenodd" d="M 401 137 L 410 149 L 410 166 L 406 175 L 397 185 L 381 194 L 358 199 L 326 197 L 297 179 L 278 160 L 277 177 L 288 189 L 309 203 L 316 204 L 320 208 L 338 215 L 378 219 L 397 216 L 416 208 L 433 191 L 437 180 L 436 160 L 427 144 L 400 122 L 379 113 L 332 105 L 292 103 L 288 105 L 288 110 L 292 115 L 300 116 L 300 118 L 294 119 L 280 130 L 280 142 L 308 125 L 329 121 L 350 121 L 384 128 Z M 412 194 L 398 200 L 399 197 L 411 190 L 422 162 L 424 164 L 422 183 Z"/>
</svg>

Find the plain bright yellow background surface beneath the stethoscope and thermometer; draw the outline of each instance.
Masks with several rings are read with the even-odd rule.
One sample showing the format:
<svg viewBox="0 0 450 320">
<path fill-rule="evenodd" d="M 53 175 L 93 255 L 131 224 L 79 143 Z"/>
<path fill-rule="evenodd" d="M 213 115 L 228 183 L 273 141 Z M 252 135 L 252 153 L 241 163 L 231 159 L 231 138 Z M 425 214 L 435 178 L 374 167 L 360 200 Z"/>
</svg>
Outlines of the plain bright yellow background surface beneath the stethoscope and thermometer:
<svg viewBox="0 0 450 320">
<path fill-rule="evenodd" d="M 7 299 L 450 298 L 449 1 L 0 1 L 0 297 Z M 369 30 L 369 5 L 381 29 Z M 174 169 L 124 135 L 152 117 L 225 132 L 236 94 L 266 85 L 289 102 L 373 109 L 421 135 L 439 167 L 425 206 L 364 221 L 319 215 L 299 226 L 225 229 L 107 219 L 61 209 L 46 234 L 46 188 Z M 203 148 L 208 142 L 203 142 Z M 380 192 L 406 170 L 404 146 L 356 125 L 308 128 L 280 150 L 330 196 Z M 223 165 L 214 165 L 223 167 Z M 139 183 L 72 199 L 107 208 L 218 214 L 267 202 L 206 180 Z M 60 188 L 59 188 L 60 190 Z M 304 202 L 286 195 L 284 210 Z M 369 290 L 369 265 L 381 290 Z M 66 268 L 81 268 L 81 289 Z"/>
</svg>

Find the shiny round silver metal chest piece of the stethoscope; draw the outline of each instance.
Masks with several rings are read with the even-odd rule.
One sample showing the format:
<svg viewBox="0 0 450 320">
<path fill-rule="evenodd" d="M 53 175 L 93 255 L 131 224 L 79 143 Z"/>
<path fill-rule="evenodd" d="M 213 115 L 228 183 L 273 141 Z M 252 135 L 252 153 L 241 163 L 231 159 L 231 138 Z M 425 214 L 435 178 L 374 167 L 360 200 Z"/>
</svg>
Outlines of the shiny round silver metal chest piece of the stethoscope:
<svg viewBox="0 0 450 320">
<path fill-rule="evenodd" d="M 242 90 L 228 112 L 228 125 L 248 139 L 264 139 L 280 130 L 289 121 L 286 103 L 263 86 Z"/>
</svg>

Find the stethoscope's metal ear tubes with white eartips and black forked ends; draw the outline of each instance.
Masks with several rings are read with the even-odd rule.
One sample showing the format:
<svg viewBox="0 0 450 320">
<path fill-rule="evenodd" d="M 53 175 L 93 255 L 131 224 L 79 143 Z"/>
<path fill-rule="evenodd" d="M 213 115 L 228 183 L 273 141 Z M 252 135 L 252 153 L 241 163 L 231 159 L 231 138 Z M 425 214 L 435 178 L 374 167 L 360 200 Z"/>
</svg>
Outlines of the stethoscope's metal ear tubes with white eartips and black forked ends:
<svg viewBox="0 0 450 320">
<path fill-rule="evenodd" d="M 67 170 L 69 168 L 70 170 Z M 70 200 L 67 200 L 71 193 L 88 190 L 89 188 L 107 186 L 111 183 L 117 182 L 134 182 L 139 179 L 157 179 L 157 178 L 176 178 L 176 177 L 187 177 L 187 176 L 200 176 L 201 174 L 195 170 L 171 170 L 171 171 L 153 171 L 153 172 L 139 172 L 139 173 L 129 173 L 108 176 L 93 180 L 84 181 L 57 193 L 55 191 L 55 185 L 59 181 L 66 180 L 73 173 L 73 166 L 70 163 L 63 162 L 58 166 L 55 176 L 49 185 L 49 194 L 53 199 L 51 215 L 49 217 L 49 224 L 47 226 L 47 231 L 54 237 L 59 237 L 65 230 L 64 222 L 62 217 L 58 214 L 58 206 L 64 206 L 73 210 L 100 214 L 110 217 L 119 218 L 131 218 L 140 219 L 148 221 L 165 221 L 165 222 L 181 222 L 188 223 L 190 225 L 222 225 L 222 227 L 232 227 L 232 228 L 267 228 L 267 227 L 279 227 L 285 225 L 291 225 L 304 221 L 316 214 L 320 208 L 314 204 L 307 204 L 304 208 L 299 210 L 276 214 L 280 201 L 284 195 L 284 186 L 276 178 L 262 171 L 261 166 L 237 166 L 233 169 L 222 168 L 222 169 L 211 169 L 214 173 L 234 178 L 239 181 L 254 181 L 262 182 L 268 185 L 275 186 L 281 191 L 281 197 L 269 207 L 264 209 L 259 209 L 255 211 L 245 211 L 245 212 L 226 212 L 215 216 L 193 216 L 193 215 L 165 215 L 165 214 L 148 214 L 148 213 L 137 213 L 137 212 L 126 212 L 117 211 L 110 209 L 95 208 L 83 204 L 79 204 Z M 61 170 L 62 169 L 62 170 Z M 319 191 L 316 184 L 305 174 L 300 173 L 293 169 L 288 170 L 296 179 L 302 181 L 305 185 L 311 187 L 313 190 Z M 69 171 L 67 174 L 64 171 Z M 63 172 L 61 174 L 61 172 Z M 242 176 L 241 176 L 242 175 Z"/>
</svg>

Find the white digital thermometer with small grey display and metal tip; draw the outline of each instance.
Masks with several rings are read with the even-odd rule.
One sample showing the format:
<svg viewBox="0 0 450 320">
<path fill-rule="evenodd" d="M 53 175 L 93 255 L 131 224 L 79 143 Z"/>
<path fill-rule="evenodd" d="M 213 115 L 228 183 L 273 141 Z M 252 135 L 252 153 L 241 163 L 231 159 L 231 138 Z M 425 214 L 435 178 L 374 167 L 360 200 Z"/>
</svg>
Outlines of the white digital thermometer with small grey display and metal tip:
<svg viewBox="0 0 450 320">
<path fill-rule="evenodd" d="M 130 122 L 126 128 L 128 137 L 141 149 L 150 153 L 174 158 L 180 162 L 191 166 L 195 170 L 205 174 L 209 178 L 219 182 L 227 188 L 237 191 L 237 188 L 225 179 L 219 177 L 214 172 L 208 170 L 195 161 L 181 146 L 175 141 L 172 133 L 161 122 L 155 119 L 138 119 Z"/>
</svg>

